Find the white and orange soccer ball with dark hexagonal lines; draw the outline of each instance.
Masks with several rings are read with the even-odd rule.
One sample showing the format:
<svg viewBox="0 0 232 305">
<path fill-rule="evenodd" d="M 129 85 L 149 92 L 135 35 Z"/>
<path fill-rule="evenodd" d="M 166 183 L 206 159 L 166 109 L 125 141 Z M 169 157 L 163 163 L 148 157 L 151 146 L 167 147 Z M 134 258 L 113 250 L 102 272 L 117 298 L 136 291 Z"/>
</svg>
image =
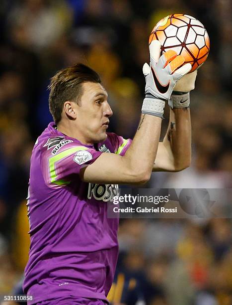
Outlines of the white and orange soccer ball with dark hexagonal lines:
<svg viewBox="0 0 232 305">
<path fill-rule="evenodd" d="M 185 14 L 172 14 L 162 18 L 152 30 L 149 44 L 161 43 L 161 54 L 172 49 L 191 63 L 190 72 L 198 69 L 209 54 L 210 40 L 204 25 L 196 18 Z"/>
</svg>

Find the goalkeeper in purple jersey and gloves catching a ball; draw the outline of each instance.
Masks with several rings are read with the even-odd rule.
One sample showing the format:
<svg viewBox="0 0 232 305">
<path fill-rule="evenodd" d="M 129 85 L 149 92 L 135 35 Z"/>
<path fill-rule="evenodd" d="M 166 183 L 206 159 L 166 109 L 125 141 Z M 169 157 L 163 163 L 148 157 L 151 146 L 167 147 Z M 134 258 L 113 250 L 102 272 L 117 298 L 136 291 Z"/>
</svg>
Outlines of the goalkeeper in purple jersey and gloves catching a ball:
<svg viewBox="0 0 232 305">
<path fill-rule="evenodd" d="M 31 157 L 28 216 L 31 246 L 24 292 L 29 305 L 107 304 L 118 257 L 119 219 L 107 218 L 117 183 L 145 183 L 152 170 L 178 171 L 191 161 L 189 93 L 195 75 L 182 56 L 150 46 L 146 97 L 134 140 L 106 133 L 112 110 L 99 76 L 77 64 L 51 80 L 54 121 Z M 160 58 L 159 58 L 160 57 Z M 186 84 L 185 84 L 186 82 Z M 192 88 L 186 90 L 191 84 Z M 163 109 L 167 134 L 159 143 Z M 127 105 L 125 105 L 125 111 Z"/>
</svg>

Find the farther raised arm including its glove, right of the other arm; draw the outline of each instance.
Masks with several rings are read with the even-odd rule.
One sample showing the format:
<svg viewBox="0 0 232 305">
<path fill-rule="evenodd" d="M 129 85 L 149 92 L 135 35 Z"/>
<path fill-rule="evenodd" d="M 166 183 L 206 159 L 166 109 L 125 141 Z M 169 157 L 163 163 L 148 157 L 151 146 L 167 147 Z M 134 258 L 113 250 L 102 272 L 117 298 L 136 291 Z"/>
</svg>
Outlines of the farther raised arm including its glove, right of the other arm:
<svg viewBox="0 0 232 305">
<path fill-rule="evenodd" d="M 153 171 L 180 171 L 191 164 L 191 120 L 189 91 L 194 89 L 197 71 L 180 79 L 169 100 L 167 133 L 158 145 Z"/>
</svg>

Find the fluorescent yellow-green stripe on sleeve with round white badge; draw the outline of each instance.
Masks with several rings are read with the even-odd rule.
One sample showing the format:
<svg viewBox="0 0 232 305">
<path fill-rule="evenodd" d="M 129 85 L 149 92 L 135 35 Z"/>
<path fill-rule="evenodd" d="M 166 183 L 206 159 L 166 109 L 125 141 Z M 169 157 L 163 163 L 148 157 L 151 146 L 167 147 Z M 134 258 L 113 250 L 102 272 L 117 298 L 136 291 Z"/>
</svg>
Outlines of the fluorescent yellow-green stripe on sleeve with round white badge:
<svg viewBox="0 0 232 305">
<path fill-rule="evenodd" d="M 86 151 L 87 148 L 84 146 L 77 146 L 77 147 L 72 147 L 64 152 L 60 152 L 57 155 L 54 155 L 49 159 L 49 171 L 50 171 L 50 178 L 51 178 L 51 183 L 56 183 L 58 185 L 63 185 L 63 184 L 69 184 L 71 181 L 65 181 L 65 180 L 57 180 L 57 175 L 56 175 L 56 169 L 55 169 L 55 163 L 57 161 L 60 161 L 61 159 L 73 154 L 74 152 L 78 151 Z"/>
</svg>

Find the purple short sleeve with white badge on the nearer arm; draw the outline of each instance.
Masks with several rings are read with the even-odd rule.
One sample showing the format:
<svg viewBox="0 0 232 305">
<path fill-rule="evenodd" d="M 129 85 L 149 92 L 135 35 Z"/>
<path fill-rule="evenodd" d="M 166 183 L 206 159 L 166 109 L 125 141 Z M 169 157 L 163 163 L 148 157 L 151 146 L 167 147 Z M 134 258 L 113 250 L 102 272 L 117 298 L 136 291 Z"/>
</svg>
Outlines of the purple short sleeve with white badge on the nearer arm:
<svg viewBox="0 0 232 305">
<path fill-rule="evenodd" d="M 82 167 L 93 163 L 102 153 L 73 141 L 59 151 L 47 146 L 41 147 L 41 150 L 41 169 L 50 186 L 69 184 L 73 175 L 78 175 Z"/>
</svg>

